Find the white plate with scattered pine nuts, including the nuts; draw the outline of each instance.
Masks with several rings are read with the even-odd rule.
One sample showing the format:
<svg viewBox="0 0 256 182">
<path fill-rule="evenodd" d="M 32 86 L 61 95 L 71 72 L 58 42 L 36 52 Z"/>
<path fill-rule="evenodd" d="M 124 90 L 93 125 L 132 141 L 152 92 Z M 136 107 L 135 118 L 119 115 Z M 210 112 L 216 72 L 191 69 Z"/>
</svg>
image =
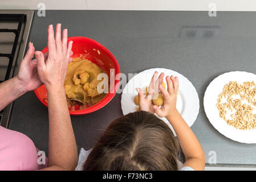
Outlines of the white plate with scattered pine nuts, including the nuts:
<svg viewBox="0 0 256 182">
<path fill-rule="evenodd" d="M 210 82 L 205 113 L 222 135 L 241 143 L 256 143 L 256 75 L 224 73 Z"/>
</svg>

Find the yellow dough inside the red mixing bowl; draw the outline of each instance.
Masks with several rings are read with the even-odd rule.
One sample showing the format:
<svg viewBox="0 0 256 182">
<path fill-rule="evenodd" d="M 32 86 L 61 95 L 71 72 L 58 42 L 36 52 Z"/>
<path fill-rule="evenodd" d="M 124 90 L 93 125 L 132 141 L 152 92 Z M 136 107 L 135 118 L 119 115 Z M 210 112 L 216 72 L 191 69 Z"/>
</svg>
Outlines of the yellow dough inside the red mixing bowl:
<svg viewBox="0 0 256 182">
<path fill-rule="evenodd" d="M 67 100 L 79 100 L 84 105 L 94 105 L 105 96 L 97 92 L 97 75 L 103 70 L 87 59 L 74 59 L 68 64 L 64 81 Z"/>
</svg>

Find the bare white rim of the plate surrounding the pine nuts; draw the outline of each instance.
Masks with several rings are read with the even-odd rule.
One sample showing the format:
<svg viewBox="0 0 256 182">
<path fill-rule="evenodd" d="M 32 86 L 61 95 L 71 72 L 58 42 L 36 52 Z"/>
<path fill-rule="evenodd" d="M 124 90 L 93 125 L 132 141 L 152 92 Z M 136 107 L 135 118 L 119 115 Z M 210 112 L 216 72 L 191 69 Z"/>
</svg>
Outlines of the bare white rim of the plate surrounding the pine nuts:
<svg viewBox="0 0 256 182">
<path fill-rule="evenodd" d="M 256 130 L 239 130 L 233 126 L 227 125 L 224 119 L 220 118 L 220 112 L 217 109 L 218 95 L 222 92 L 224 85 L 230 81 L 237 81 L 243 84 L 245 81 L 255 81 L 256 75 L 247 72 L 228 72 L 216 77 L 210 82 L 205 91 L 204 108 L 205 113 L 212 125 L 222 135 L 241 143 L 256 143 Z"/>
</svg>

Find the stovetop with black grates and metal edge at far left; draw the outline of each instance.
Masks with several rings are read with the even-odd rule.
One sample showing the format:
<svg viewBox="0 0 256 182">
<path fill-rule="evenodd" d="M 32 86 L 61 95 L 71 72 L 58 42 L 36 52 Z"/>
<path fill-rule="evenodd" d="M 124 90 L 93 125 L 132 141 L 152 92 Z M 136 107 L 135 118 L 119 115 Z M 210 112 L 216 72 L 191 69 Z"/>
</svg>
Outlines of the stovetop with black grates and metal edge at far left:
<svg viewBox="0 0 256 182">
<path fill-rule="evenodd" d="M 18 74 L 34 11 L 0 10 L 0 83 Z M 0 126 L 9 127 L 14 102 L 0 111 Z"/>
</svg>

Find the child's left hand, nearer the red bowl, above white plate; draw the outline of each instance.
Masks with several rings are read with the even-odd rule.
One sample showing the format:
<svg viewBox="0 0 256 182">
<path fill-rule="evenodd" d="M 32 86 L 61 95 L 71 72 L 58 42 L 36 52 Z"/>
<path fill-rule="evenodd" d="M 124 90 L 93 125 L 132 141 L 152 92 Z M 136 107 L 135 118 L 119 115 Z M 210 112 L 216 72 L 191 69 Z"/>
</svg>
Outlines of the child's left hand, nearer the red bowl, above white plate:
<svg viewBox="0 0 256 182">
<path fill-rule="evenodd" d="M 140 110 L 148 111 L 152 114 L 155 114 L 155 110 L 153 109 L 153 104 L 152 104 L 152 98 L 155 95 L 155 93 L 158 93 L 159 91 L 159 85 L 162 84 L 162 81 L 164 80 L 164 73 L 161 73 L 159 78 L 157 78 L 158 72 L 155 72 L 151 82 L 149 84 L 149 90 L 148 94 L 145 97 L 145 94 L 142 93 L 140 88 L 136 88 L 138 94 L 139 94 L 139 106 Z M 156 79 L 157 78 L 157 79 Z M 155 86 L 157 85 L 157 86 Z"/>
</svg>

